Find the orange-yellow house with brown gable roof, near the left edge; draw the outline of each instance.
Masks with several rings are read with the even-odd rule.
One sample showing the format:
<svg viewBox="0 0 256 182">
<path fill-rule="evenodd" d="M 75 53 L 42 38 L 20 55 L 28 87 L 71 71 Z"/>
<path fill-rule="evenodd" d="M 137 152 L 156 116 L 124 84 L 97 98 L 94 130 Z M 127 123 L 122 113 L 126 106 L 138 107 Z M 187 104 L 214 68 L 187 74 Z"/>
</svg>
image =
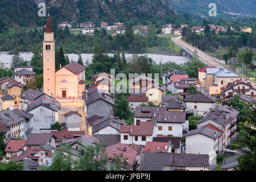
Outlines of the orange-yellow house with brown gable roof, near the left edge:
<svg viewBox="0 0 256 182">
<path fill-rule="evenodd" d="M 23 85 L 20 82 L 11 81 L 6 85 L 6 94 L 13 96 L 14 107 L 19 108 L 20 97 L 19 95 L 22 93 Z"/>
</svg>

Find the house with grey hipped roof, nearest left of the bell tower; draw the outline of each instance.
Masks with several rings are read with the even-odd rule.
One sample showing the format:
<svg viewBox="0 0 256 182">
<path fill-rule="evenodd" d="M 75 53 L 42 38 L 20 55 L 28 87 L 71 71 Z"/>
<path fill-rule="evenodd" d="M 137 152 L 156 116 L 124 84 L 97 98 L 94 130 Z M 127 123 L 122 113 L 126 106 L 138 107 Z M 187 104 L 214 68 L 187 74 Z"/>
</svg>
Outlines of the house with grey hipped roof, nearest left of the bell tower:
<svg viewBox="0 0 256 182">
<path fill-rule="evenodd" d="M 33 72 L 33 68 L 34 67 L 15 67 L 15 80 L 23 85 L 26 85 L 31 79 L 34 80 L 36 73 Z"/>
</svg>

